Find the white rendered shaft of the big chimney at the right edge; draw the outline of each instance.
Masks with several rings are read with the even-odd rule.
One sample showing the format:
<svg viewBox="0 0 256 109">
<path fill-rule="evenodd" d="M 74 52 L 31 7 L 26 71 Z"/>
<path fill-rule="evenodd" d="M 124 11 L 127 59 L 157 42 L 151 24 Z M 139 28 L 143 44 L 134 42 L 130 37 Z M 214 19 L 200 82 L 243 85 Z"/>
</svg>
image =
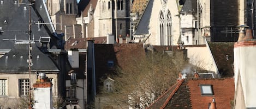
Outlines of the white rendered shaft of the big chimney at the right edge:
<svg viewBox="0 0 256 109">
<path fill-rule="evenodd" d="M 237 83 L 237 75 L 240 72 L 246 107 L 256 107 L 255 55 L 255 46 L 234 48 L 235 83 Z M 237 87 L 236 84 L 235 87 Z"/>
</svg>

